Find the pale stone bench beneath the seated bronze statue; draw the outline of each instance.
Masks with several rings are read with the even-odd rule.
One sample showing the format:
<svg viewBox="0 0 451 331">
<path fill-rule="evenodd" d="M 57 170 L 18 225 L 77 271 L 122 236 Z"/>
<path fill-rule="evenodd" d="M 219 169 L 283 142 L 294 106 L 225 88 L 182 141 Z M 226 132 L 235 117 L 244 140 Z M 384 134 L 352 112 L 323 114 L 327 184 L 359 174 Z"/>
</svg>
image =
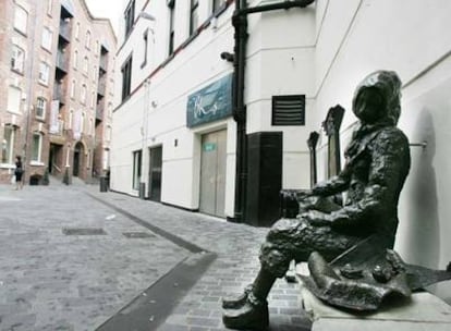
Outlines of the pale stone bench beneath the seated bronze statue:
<svg viewBox="0 0 451 331">
<path fill-rule="evenodd" d="M 328 306 L 304 286 L 301 286 L 301 299 L 312 319 L 312 331 L 451 330 L 451 306 L 428 292 L 414 293 L 411 298 L 393 298 L 380 311 L 365 315 Z"/>
</svg>

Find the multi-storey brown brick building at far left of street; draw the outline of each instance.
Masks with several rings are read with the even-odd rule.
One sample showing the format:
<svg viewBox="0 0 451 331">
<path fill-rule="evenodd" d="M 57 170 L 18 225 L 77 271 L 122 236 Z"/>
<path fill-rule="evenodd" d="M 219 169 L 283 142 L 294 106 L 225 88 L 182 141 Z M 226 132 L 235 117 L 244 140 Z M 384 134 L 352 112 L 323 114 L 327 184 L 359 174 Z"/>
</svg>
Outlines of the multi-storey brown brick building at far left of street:
<svg viewBox="0 0 451 331">
<path fill-rule="evenodd" d="M 0 3 L 0 183 L 84 181 L 108 168 L 115 36 L 84 0 Z"/>
</svg>

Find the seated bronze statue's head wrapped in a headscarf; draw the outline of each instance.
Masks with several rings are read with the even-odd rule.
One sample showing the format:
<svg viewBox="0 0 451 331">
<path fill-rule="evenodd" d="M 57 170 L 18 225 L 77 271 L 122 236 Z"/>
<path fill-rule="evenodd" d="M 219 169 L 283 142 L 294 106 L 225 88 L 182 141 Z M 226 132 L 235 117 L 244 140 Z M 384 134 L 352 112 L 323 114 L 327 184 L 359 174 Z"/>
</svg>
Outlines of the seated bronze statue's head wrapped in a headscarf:
<svg viewBox="0 0 451 331">
<path fill-rule="evenodd" d="M 357 86 L 352 102 L 354 114 L 367 124 L 398 123 L 401 114 L 401 79 L 393 71 L 376 71 Z"/>
</svg>

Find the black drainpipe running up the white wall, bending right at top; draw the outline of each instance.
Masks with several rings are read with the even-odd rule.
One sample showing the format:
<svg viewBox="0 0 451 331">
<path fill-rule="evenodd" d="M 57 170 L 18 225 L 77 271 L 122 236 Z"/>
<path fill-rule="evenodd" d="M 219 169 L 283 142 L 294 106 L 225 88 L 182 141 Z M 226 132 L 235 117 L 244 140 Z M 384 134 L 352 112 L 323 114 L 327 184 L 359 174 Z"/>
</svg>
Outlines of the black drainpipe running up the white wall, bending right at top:
<svg viewBox="0 0 451 331">
<path fill-rule="evenodd" d="M 232 17 L 234 33 L 232 107 L 233 119 L 236 122 L 236 175 L 235 175 L 235 207 L 234 222 L 246 219 L 245 206 L 247 200 L 247 136 L 246 136 L 246 105 L 244 103 L 244 78 L 247 47 L 247 15 L 273 10 L 305 8 L 315 0 L 285 0 L 283 2 L 248 8 L 246 0 L 235 0 L 235 11 Z"/>
</svg>

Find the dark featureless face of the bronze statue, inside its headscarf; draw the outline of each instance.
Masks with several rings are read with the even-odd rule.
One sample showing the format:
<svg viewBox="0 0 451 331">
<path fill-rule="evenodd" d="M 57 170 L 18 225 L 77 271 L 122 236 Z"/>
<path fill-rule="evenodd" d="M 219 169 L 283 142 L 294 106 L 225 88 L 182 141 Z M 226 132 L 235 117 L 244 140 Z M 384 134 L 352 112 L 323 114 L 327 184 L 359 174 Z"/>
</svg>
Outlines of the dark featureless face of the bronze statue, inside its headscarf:
<svg viewBox="0 0 451 331">
<path fill-rule="evenodd" d="M 354 113 L 364 123 L 375 123 L 386 112 L 385 98 L 376 87 L 363 87 L 355 99 Z"/>
</svg>

